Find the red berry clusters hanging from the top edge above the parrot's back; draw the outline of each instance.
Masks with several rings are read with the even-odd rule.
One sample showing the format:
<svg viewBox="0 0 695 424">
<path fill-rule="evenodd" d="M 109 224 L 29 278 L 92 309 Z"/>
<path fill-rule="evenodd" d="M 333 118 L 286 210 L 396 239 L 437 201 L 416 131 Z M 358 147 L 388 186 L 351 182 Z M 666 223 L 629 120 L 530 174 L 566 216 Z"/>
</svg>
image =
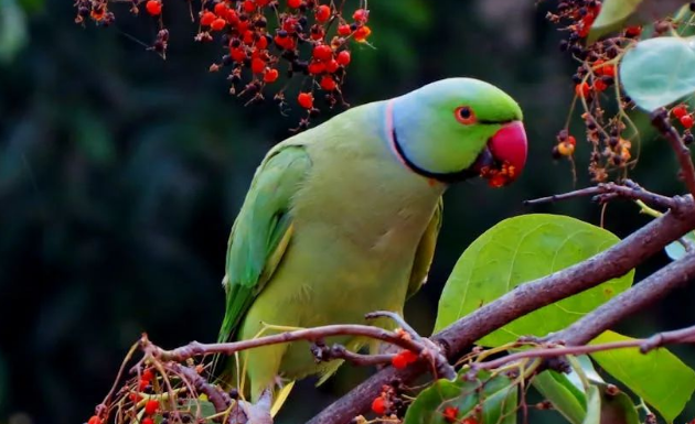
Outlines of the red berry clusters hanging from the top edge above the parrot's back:
<svg viewBox="0 0 695 424">
<path fill-rule="evenodd" d="M 98 24 L 114 21 L 109 0 L 77 0 L 76 22 L 90 18 Z M 190 1 L 190 0 L 189 0 Z M 169 32 L 162 20 L 164 0 L 131 0 L 135 14 L 145 9 L 159 25 L 152 50 L 164 56 Z M 321 91 L 329 107 L 348 106 L 341 87 L 352 61 L 350 42 L 367 43 L 372 30 L 366 0 L 360 0 L 350 19 L 344 15 L 345 1 L 335 6 L 328 0 L 202 0 L 196 13 L 195 40 L 222 44 L 221 59 L 211 72 L 228 68 L 229 93 L 247 98 L 247 105 L 271 91 L 285 110 L 289 102 L 278 86 L 280 76 L 301 77 L 295 104 L 306 110 L 298 130 L 309 127 L 319 113 L 314 95 Z"/>
</svg>

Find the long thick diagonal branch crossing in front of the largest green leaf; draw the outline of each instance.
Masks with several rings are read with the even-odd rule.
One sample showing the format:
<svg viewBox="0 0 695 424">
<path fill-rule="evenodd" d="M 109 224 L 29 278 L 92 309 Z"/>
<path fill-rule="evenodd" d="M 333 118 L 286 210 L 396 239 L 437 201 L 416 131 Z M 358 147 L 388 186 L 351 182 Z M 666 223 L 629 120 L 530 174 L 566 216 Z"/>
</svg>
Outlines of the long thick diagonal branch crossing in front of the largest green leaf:
<svg viewBox="0 0 695 424">
<path fill-rule="evenodd" d="M 447 356 L 458 358 L 464 349 L 487 334 L 537 308 L 591 289 L 623 275 L 670 242 L 695 228 L 695 205 L 692 197 L 675 198 L 678 207 L 642 227 L 610 249 L 543 279 L 523 284 L 493 303 L 459 319 L 436 334 L 432 339 L 446 348 Z M 677 210 L 677 213 L 676 213 Z M 368 410 L 383 384 L 393 379 L 411 381 L 423 367 L 396 371 L 387 368 L 350 393 L 329 405 L 310 424 L 344 424 Z"/>
</svg>

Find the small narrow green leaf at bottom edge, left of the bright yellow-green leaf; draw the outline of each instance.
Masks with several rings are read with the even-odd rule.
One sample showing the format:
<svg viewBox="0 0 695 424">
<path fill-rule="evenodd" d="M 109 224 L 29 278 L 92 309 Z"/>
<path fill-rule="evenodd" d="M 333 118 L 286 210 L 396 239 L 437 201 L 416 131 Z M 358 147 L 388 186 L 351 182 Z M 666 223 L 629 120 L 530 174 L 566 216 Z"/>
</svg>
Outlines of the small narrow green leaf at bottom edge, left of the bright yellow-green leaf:
<svg viewBox="0 0 695 424">
<path fill-rule="evenodd" d="M 587 414 L 586 394 L 557 371 L 543 371 L 534 377 L 533 387 L 571 424 L 581 424 Z"/>
</svg>

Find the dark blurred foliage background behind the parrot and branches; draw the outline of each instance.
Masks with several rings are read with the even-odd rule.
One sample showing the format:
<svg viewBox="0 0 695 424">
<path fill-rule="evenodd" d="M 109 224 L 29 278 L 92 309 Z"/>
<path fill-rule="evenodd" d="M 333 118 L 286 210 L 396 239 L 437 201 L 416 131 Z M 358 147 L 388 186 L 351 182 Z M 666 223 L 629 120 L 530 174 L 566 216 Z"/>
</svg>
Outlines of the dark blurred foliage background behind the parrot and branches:
<svg viewBox="0 0 695 424">
<path fill-rule="evenodd" d="M 164 3 L 167 61 L 146 51 L 140 41 L 153 40 L 154 24 L 130 17 L 127 4 L 114 7 L 116 24 L 100 29 L 76 25 L 67 0 L 0 1 L 2 424 L 83 423 L 142 331 L 163 347 L 216 338 L 229 228 L 256 165 L 297 117 L 231 97 L 224 75 L 207 73 L 217 45 L 193 42 L 184 1 Z M 524 109 L 531 155 L 523 177 L 504 191 L 464 184 L 446 196 L 430 282 L 406 309 L 425 334 L 448 273 L 487 228 L 528 211 L 599 224 L 600 209 L 588 199 L 522 206 L 574 184 L 569 163 L 554 162 L 550 149 L 567 118 L 576 65 L 544 20 L 548 4 L 534 3 L 371 1 L 375 48 L 353 51 L 344 88 L 353 105 L 473 76 Z M 589 184 L 587 150 L 578 145 L 577 186 Z M 674 170 L 671 151 L 644 133 L 633 177 L 676 194 Z M 606 213 L 619 236 L 648 219 L 628 204 Z M 638 278 L 666 261 L 654 258 Z M 694 295 L 675 293 L 620 330 L 644 336 L 691 325 Z M 692 349 L 675 350 L 695 365 Z M 278 421 L 312 416 L 368 372 L 345 368 L 320 389 L 302 383 Z M 683 417 L 694 414 L 691 407 Z M 556 420 L 546 412 L 534 422 Z"/>
</svg>

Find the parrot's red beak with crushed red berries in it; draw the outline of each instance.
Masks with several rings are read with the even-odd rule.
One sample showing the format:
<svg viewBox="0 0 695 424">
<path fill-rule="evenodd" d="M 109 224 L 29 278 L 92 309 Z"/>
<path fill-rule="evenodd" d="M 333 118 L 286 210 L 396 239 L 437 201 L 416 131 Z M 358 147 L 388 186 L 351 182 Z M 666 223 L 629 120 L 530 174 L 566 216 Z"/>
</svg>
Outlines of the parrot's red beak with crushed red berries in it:
<svg viewBox="0 0 695 424">
<path fill-rule="evenodd" d="M 502 187 L 518 178 L 526 164 L 528 142 L 521 121 L 504 124 L 488 141 L 480 154 L 480 175 L 493 187 Z"/>
</svg>

